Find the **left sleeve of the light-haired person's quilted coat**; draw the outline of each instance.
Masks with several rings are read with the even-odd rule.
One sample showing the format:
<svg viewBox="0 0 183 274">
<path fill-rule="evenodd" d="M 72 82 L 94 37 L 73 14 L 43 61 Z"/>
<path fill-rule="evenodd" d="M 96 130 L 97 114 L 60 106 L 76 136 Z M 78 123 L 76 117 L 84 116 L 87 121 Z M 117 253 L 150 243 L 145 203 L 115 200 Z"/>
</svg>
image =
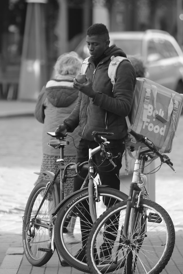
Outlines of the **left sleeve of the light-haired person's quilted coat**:
<svg viewBox="0 0 183 274">
<path fill-rule="evenodd" d="M 35 118 L 40 122 L 44 124 L 44 101 L 46 99 L 46 93 L 45 93 L 45 86 L 42 88 L 41 92 L 39 93 L 38 100 L 36 102 L 36 107 L 34 111 Z"/>
</svg>

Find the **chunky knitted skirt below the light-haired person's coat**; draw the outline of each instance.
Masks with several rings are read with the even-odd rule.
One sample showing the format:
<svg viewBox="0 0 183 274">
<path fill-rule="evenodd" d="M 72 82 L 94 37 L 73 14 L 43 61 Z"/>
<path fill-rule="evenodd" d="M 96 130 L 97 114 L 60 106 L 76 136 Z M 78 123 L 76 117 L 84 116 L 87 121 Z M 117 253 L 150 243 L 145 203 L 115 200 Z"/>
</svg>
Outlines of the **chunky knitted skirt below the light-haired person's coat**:
<svg viewBox="0 0 183 274">
<path fill-rule="evenodd" d="M 58 156 L 50 156 L 50 155 L 43 154 L 40 171 L 48 170 L 55 173 L 56 167 L 58 165 L 58 162 L 56 162 L 57 159 L 58 159 Z M 64 163 L 68 164 L 69 162 L 75 162 L 75 156 L 64 156 Z M 59 168 L 59 165 L 57 169 L 58 168 Z M 67 175 L 73 175 L 74 173 L 75 173 L 74 170 L 67 171 Z M 57 176 L 57 179 L 60 182 L 60 174 Z M 40 174 L 34 185 L 44 180 L 49 181 L 50 180 L 49 176 Z M 67 181 L 64 184 L 64 198 L 73 192 L 73 180 L 74 178 L 67 178 Z"/>
</svg>

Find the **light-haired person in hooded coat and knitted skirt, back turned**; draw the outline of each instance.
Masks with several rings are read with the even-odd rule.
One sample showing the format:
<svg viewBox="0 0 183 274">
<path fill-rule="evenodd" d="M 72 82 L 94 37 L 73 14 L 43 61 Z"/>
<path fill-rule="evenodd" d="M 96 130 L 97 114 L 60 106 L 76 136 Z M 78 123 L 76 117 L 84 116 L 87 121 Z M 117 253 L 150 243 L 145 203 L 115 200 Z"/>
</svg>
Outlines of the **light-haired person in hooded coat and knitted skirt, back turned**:
<svg viewBox="0 0 183 274">
<path fill-rule="evenodd" d="M 60 150 L 49 147 L 47 143 L 55 140 L 47 134 L 53 132 L 60 120 L 69 115 L 77 104 L 78 90 L 73 88 L 73 80 L 80 72 L 82 59 L 76 52 L 66 52 L 60 55 L 54 65 L 54 79 L 49 80 L 42 88 L 35 107 L 35 118 L 43 123 L 42 150 L 43 158 L 41 171 L 49 170 L 55 173 L 56 160 L 60 157 Z M 78 129 L 67 136 L 69 145 L 64 149 L 65 163 L 74 162 L 79 141 Z M 74 142 L 73 139 L 74 138 Z M 71 173 L 73 171 L 70 171 Z M 70 174 L 71 174 L 70 173 Z M 60 175 L 58 175 L 60 181 Z M 41 181 L 49 180 L 47 175 L 40 174 L 35 185 Z M 64 197 L 73 192 L 73 179 L 68 178 L 64 185 Z"/>
</svg>

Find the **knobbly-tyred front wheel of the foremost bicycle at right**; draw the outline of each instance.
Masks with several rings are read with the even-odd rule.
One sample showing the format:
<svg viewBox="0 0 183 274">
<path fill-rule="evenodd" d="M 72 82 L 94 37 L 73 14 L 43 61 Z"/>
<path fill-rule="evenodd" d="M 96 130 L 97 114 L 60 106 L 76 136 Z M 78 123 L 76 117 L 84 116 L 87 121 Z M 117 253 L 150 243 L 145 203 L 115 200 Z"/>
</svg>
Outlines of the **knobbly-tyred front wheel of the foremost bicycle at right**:
<svg viewBox="0 0 183 274">
<path fill-rule="evenodd" d="M 86 246 L 91 273 L 157 274 L 167 265 L 175 243 L 174 226 L 168 213 L 155 202 L 142 199 L 140 208 L 133 209 L 130 215 L 129 242 L 125 244 L 122 232 L 126 204 L 120 202 L 108 209 L 92 227 Z M 113 241 L 109 239 L 109 231 Z"/>
</svg>

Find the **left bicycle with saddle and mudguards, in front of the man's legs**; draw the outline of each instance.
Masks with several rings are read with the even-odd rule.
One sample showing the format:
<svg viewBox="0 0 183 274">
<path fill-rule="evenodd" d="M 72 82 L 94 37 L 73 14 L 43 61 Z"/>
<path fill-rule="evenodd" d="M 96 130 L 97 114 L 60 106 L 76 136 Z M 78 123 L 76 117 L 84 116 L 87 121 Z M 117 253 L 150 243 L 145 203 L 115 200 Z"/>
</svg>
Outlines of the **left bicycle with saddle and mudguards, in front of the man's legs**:
<svg viewBox="0 0 183 274">
<path fill-rule="evenodd" d="M 112 164 L 113 168 L 115 166 L 111 152 L 106 151 L 109 142 L 102 137 L 102 135 L 112 135 L 113 133 L 93 132 L 92 135 L 99 145 L 95 149 L 89 149 L 88 161 L 79 164 L 73 162 L 64 164 L 64 147 L 69 145 L 69 142 L 65 140 L 65 135 L 56 136 L 54 132 L 48 134 L 59 139 L 49 141 L 48 144 L 55 149 L 60 149 L 60 159 L 57 159 L 60 167 L 58 170 L 56 169 L 55 173 L 49 171 L 35 172 L 38 175 L 41 173 L 48 175 L 50 181 L 37 184 L 27 201 L 22 227 L 25 255 L 33 266 L 43 266 L 49 261 L 56 249 L 57 253 L 59 252 L 71 266 L 83 272 L 89 272 L 86 261 L 74 257 L 75 251 L 71 248 L 72 237 L 69 234 L 69 227 L 74 218 L 78 220 L 78 217 L 81 218 L 86 215 L 88 208 L 92 219 L 85 219 L 85 222 L 91 227 L 106 208 L 128 198 L 125 193 L 119 190 L 97 184 L 95 179 L 97 167 L 92 161 L 92 155 L 95 153 L 101 152 L 104 161 L 107 161 L 108 165 Z M 68 175 L 68 170 L 75 170 L 76 174 Z M 67 178 L 80 176 L 80 170 L 88 170 L 88 175 L 81 189 L 64 199 L 64 184 Z M 60 174 L 60 182 L 57 179 L 58 174 Z M 82 239 L 81 229 L 77 223 L 75 230 L 78 231 L 77 246 L 79 248 Z"/>
</svg>

